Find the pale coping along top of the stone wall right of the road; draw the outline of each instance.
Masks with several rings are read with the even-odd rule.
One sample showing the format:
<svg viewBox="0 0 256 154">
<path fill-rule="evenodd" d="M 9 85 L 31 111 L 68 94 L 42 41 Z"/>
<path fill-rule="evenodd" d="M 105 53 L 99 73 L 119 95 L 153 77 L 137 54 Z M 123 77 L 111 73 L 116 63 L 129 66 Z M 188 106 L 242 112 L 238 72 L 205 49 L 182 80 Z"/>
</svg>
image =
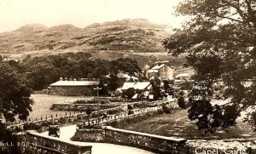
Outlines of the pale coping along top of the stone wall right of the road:
<svg viewBox="0 0 256 154">
<path fill-rule="evenodd" d="M 111 126 L 107 126 L 105 129 L 113 130 L 113 131 L 117 131 L 117 132 L 121 132 L 121 133 L 127 133 L 127 134 L 143 135 L 143 136 L 147 136 L 150 138 L 168 140 L 168 141 L 177 142 L 177 143 L 185 143 L 187 141 L 186 139 L 183 139 L 183 138 L 166 137 L 166 136 L 161 136 L 161 135 L 157 135 L 157 134 L 140 133 L 140 132 L 135 132 L 135 131 L 131 131 L 131 130 L 113 128 Z"/>
</svg>

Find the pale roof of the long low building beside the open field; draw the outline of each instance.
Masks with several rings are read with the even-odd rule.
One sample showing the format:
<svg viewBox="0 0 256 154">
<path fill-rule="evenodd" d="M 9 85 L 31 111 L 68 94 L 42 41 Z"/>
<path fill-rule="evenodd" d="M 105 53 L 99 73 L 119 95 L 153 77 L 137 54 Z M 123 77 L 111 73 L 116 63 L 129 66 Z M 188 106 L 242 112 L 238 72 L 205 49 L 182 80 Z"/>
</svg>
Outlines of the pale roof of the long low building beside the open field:
<svg viewBox="0 0 256 154">
<path fill-rule="evenodd" d="M 49 86 L 94 86 L 99 83 L 98 81 L 58 81 Z"/>
</svg>

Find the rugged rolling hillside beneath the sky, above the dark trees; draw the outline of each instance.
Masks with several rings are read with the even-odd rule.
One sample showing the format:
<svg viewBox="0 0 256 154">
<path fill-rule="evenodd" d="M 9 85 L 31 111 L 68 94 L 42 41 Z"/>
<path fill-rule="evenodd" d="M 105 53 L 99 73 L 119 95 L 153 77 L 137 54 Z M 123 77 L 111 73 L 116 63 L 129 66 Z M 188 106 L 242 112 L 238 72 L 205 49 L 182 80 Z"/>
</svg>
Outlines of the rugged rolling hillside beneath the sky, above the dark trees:
<svg viewBox="0 0 256 154">
<path fill-rule="evenodd" d="M 123 50 L 125 52 L 160 52 L 161 41 L 170 35 L 169 26 L 143 19 L 127 19 L 92 24 L 46 27 L 34 24 L 0 34 L 1 54 L 31 51 Z"/>
</svg>

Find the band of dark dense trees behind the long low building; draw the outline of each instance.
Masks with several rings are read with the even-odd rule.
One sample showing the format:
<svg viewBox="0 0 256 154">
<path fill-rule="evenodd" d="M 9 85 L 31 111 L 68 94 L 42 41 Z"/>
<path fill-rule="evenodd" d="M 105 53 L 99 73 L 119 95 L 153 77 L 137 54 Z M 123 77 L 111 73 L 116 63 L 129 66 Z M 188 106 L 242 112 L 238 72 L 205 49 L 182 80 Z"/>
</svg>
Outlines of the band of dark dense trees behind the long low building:
<svg viewBox="0 0 256 154">
<path fill-rule="evenodd" d="M 55 83 L 60 77 L 63 77 L 64 80 L 70 78 L 100 80 L 102 84 L 108 84 L 110 90 L 115 90 L 119 87 L 116 80 L 120 71 L 129 75 L 135 75 L 135 72 L 141 71 L 136 60 L 128 58 L 112 61 L 91 60 L 91 54 L 82 52 L 38 57 L 27 56 L 20 65 L 29 81 L 29 87 L 33 90 L 47 88 L 50 83 Z M 104 80 L 107 77 L 108 80 Z"/>
</svg>

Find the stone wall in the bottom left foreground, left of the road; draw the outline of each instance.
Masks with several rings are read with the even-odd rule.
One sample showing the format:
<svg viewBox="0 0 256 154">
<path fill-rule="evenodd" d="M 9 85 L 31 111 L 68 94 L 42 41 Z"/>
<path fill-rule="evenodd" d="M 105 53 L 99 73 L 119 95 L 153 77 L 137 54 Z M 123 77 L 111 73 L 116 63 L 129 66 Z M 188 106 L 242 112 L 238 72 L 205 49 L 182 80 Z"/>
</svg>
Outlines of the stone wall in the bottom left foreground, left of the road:
<svg viewBox="0 0 256 154">
<path fill-rule="evenodd" d="M 20 153 L 68 153 L 68 154 L 91 154 L 91 145 L 74 145 L 54 137 L 44 137 L 32 131 L 18 136 Z"/>
</svg>

